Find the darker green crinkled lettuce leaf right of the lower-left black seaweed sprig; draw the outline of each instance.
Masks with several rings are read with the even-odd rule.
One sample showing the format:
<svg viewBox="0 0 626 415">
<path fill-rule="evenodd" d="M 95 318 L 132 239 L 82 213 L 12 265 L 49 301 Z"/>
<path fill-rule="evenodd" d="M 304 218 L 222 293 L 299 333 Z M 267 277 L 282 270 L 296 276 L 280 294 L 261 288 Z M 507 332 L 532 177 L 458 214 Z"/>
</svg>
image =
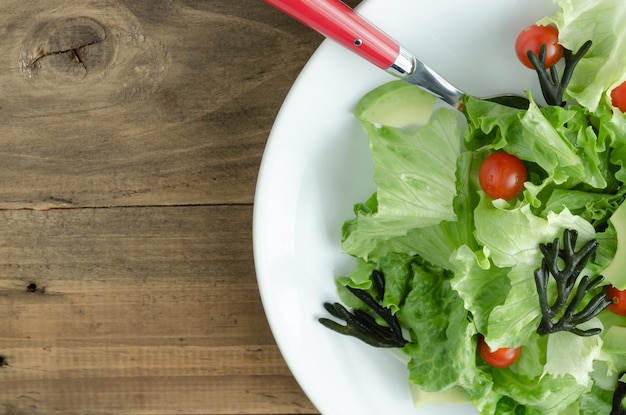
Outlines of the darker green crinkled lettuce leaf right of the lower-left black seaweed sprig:
<svg viewBox="0 0 626 415">
<path fill-rule="evenodd" d="M 476 366 L 476 328 L 445 274 L 415 266 L 412 290 L 397 315 L 411 332 L 412 343 L 403 348 L 410 381 L 428 392 L 460 386 L 479 409 L 493 413 L 500 396 Z"/>
</svg>

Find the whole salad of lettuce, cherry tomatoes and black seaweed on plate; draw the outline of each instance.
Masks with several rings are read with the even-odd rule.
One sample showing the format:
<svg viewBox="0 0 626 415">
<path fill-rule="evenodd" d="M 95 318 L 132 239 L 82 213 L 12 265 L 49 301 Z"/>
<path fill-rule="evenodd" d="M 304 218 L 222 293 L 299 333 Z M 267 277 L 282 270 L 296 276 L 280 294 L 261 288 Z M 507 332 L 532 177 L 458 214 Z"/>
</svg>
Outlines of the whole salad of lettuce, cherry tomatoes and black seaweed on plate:
<svg viewBox="0 0 626 415">
<path fill-rule="evenodd" d="M 528 108 L 396 81 L 355 110 L 377 190 L 342 228 L 351 311 L 320 321 L 400 350 L 418 400 L 625 412 L 626 3 L 557 4 L 518 38 L 544 92 Z"/>
</svg>

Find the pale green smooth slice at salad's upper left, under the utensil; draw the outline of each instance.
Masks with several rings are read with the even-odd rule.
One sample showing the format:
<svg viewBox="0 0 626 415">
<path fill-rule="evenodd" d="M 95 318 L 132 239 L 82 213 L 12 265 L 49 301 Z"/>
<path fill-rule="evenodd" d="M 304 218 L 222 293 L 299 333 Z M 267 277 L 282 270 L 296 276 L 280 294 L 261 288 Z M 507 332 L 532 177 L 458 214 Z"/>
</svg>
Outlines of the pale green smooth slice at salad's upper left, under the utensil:
<svg viewBox="0 0 626 415">
<path fill-rule="evenodd" d="M 428 122 L 437 98 L 405 81 L 391 81 L 367 93 L 354 114 L 361 121 L 402 128 Z"/>
</svg>

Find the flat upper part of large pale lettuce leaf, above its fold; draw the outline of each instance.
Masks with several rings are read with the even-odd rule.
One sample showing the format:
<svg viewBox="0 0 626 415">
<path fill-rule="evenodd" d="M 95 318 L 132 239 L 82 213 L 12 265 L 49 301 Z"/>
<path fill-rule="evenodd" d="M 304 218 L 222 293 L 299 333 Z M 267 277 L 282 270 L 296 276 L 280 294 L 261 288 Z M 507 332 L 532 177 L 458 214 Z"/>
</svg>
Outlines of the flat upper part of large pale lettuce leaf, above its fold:
<svg viewBox="0 0 626 415">
<path fill-rule="evenodd" d="M 458 113 L 440 109 L 416 132 L 363 122 L 370 138 L 378 216 L 423 227 L 454 220 Z"/>
</svg>

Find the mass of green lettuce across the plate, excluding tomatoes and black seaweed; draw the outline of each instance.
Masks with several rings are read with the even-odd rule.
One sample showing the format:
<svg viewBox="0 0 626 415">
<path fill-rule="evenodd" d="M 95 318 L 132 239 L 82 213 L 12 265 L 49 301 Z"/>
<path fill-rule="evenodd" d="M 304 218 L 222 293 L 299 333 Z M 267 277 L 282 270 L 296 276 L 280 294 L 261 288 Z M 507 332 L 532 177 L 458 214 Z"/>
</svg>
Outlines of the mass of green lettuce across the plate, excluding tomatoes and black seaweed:
<svg viewBox="0 0 626 415">
<path fill-rule="evenodd" d="M 626 197 L 626 117 L 607 98 L 626 80 L 626 2 L 557 2 L 557 15 L 543 22 L 558 26 L 564 46 L 592 41 L 564 96 L 577 102 L 541 107 L 528 94 L 528 109 L 516 109 L 467 97 L 466 123 L 439 109 L 412 125 L 393 108 L 403 99 L 413 109 L 432 101 L 396 83 L 357 106 L 377 190 L 343 226 L 342 249 L 356 265 L 337 279 L 341 298 L 370 312 L 350 291 L 376 296 L 370 276 L 381 271 L 381 305 L 411 337 L 402 347 L 410 382 L 427 392 L 462 389 L 481 414 L 607 414 L 626 370 L 624 317 L 602 311 L 580 325 L 602 328 L 590 337 L 536 332 L 541 244 L 566 229 L 578 233 L 577 247 L 596 240 L 581 270 L 596 278 L 618 251 L 609 218 Z M 508 202 L 491 200 L 477 183 L 482 160 L 498 150 L 528 172 L 523 194 Z M 553 281 L 546 298 L 557 298 Z M 479 335 L 492 349 L 521 347 L 519 360 L 488 366 L 476 353 Z"/>
</svg>

